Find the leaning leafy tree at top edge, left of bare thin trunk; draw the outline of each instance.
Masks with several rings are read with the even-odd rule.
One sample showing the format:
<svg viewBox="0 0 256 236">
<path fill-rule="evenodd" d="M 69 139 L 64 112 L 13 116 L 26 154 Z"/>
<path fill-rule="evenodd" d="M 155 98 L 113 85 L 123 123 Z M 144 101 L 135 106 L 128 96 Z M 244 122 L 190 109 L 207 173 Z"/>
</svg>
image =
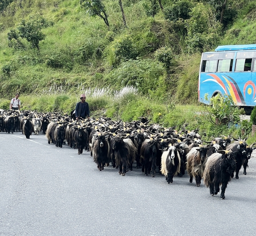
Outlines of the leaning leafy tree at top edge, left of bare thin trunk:
<svg viewBox="0 0 256 236">
<path fill-rule="evenodd" d="M 80 4 L 83 8 L 87 10 L 86 12 L 90 16 L 98 15 L 100 18 L 104 20 L 105 24 L 109 27 L 105 6 L 101 0 L 80 0 Z"/>
</svg>

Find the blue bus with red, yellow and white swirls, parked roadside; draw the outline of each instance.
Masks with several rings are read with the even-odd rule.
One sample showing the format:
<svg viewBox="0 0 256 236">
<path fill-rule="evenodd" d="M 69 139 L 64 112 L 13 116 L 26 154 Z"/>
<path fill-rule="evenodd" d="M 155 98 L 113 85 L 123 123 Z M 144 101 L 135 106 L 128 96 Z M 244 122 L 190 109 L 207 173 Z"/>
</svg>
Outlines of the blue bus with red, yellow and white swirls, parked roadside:
<svg viewBox="0 0 256 236">
<path fill-rule="evenodd" d="M 237 106 L 251 114 L 256 103 L 256 44 L 218 46 L 214 52 L 202 53 L 198 100 L 209 104 L 217 94 L 231 95 Z"/>
</svg>

